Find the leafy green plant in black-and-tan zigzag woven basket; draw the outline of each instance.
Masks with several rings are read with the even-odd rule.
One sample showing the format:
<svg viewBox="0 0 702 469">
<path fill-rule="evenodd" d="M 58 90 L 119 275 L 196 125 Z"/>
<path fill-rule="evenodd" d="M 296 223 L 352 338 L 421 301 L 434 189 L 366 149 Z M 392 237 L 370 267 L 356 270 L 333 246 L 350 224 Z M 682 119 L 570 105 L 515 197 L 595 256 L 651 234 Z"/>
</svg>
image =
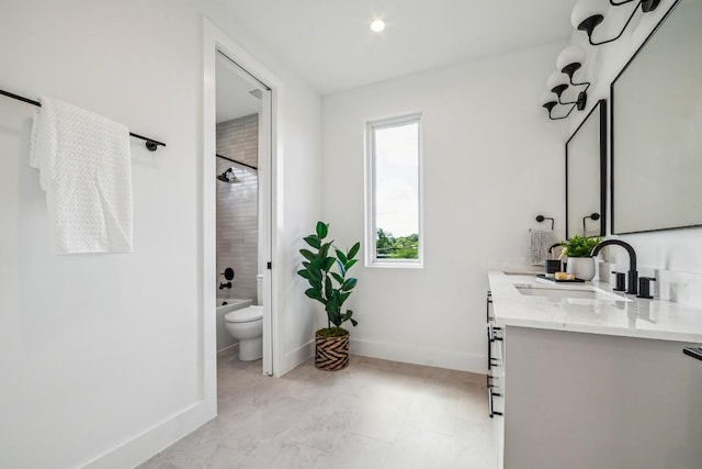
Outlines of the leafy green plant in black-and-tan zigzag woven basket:
<svg viewBox="0 0 702 469">
<path fill-rule="evenodd" d="M 349 365 L 349 331 L 341 325 L 347 321 L 354 327 L 358 324 L 353 311 L 342 313 L 341 306 L 356 284 L 356 279 L 347 273 L 358 261 L 361 243 L 344 253 L 333 246 L 333 241 L 325 242 L 328 233 L 329 224 L 317 222 L 315 233 L 304 238 L 312 249 L 299 249 L 305 260 L 297 275 L 309 283 L 305 294 L 324 304 L 327 312 L 327 327 L 315 333 L 315 366 L 337 371 Z"/>
</svg>

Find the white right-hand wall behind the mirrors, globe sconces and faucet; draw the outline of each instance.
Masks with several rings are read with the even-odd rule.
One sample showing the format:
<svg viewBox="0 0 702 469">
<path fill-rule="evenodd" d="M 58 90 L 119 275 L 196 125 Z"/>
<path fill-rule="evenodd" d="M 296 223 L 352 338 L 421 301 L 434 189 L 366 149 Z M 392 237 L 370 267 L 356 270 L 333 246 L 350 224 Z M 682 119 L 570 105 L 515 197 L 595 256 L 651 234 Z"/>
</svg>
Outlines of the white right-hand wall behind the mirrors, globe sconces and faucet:
<svg viewBox="0 0 702 469">
<path fill-rule="evenodd" d="M 699 2 L 699 0 L 682 0 L 680 8 L 672 14 L 684 14 L 686 3 L 692 1 Z M 584 78 L 592 81 L 593 85 L 588 92 L 588 109 L 581 113 L 574 113 L 568 119 L 570 131 L 576 129 L 589 108 L 597 103 L 597 100 L 607 99 L 609 101 L 612 80 L 673 3 L 675 0 L 661 0 L 654 12 L 642 14 L 639 11 L 622 37 L 608 45 L 589 47 L 586 45 L 587 36 L 585 34 L 579 32 L 573 34 L 571 43 L 581 45 L 588 53 L 585 64 L 587 75 Z M 607 37 L 608 32 L 602 31 L 599 34 L 602 36 L 598 37 Z M 676 83 L 661 83 L 661 86 L 675 87 Z M 642 99 L 645 98 L 642 96 Z M 608 144 L 608 161 L 610 149 Z M 611 175 L 611 171 L 608 174 Z M 656 190 L 655 187 L 650 188 L 650 191 Z M 609 197 L 608 189 L 608 199 Z M 608 233 L 611 233 L 609 220 Z M 654 286 L 657 297 L 702 306 L 702 249 L 700 249 L 702 228 L 671 230 L 619 237 L 636 249 L 639 273 L 658 278 L 658 282 Z M 623 249 L 613 248 L 609 256 L 618 264 L 619 270 L 626 270 L 629 260 Z M 602 269 L 603 272 L 608 270 Z"/>
</svg>

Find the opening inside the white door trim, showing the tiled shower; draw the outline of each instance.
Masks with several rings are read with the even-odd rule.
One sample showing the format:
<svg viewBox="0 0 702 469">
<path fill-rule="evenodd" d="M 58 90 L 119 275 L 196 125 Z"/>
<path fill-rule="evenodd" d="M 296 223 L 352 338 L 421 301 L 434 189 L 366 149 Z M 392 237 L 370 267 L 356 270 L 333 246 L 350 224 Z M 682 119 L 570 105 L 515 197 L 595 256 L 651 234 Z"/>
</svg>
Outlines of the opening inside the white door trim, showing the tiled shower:
<svg viewBox="0 0 702 469">
<path fill-rule="evenodd" d="M 237 346 L 224 316 L 231 304 L 248 300 L 264 306 L 262 372 L 273 375 L 270 304 L 263 289 L 270 246 L 271 89 L 222 49 L 215 65 L 217 351 Z M 260 171 L 259 171 L 259 168 Z M 268 193 L 267 193 L 268 191 Z M 227 273 L 225 273 L 227 272 Z M 234 278 L 228 278 L 234 276 Z M 222 281 L 224 280 L 224 281 Z M 229 299 L 229 301 L 227 301 Z M 247 303 L 242 303 L 247 304 Z M 268 310 L 269 321 L 265 320 Z"/>
</svg>

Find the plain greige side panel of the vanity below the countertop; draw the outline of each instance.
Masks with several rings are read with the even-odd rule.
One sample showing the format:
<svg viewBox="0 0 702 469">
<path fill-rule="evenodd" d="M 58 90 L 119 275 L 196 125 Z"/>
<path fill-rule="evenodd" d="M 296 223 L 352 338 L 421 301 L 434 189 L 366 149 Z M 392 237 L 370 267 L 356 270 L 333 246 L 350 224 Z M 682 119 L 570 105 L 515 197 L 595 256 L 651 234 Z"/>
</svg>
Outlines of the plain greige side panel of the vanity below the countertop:
<svg viewBox="0 0 702 469">
<path fill-rule="evenodd" d="M 699 469 L 702 362 L 686 344 L 507 326 L 503 467 Z"/>
</svg>

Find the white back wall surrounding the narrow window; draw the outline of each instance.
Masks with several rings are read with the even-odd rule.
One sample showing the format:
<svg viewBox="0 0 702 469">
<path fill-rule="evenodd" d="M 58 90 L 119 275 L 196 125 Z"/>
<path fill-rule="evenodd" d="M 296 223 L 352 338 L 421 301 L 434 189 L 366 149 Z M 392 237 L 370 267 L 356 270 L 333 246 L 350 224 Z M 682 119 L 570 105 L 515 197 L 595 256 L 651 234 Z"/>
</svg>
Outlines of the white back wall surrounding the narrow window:
<svg viewBox="0 0 702 469">
<path fill-rule="evenodd" d="M 526 258 L 540 213 L 564 233 L 566 127 L 537 103 L 564 45 L 322 99 L 322 214 L 341 246 L 364 238 L 365 122 L 422 112 L 424 267 L 359 266 L 354 353 L 485 371 L 488 259 Z"/>
</svg>

